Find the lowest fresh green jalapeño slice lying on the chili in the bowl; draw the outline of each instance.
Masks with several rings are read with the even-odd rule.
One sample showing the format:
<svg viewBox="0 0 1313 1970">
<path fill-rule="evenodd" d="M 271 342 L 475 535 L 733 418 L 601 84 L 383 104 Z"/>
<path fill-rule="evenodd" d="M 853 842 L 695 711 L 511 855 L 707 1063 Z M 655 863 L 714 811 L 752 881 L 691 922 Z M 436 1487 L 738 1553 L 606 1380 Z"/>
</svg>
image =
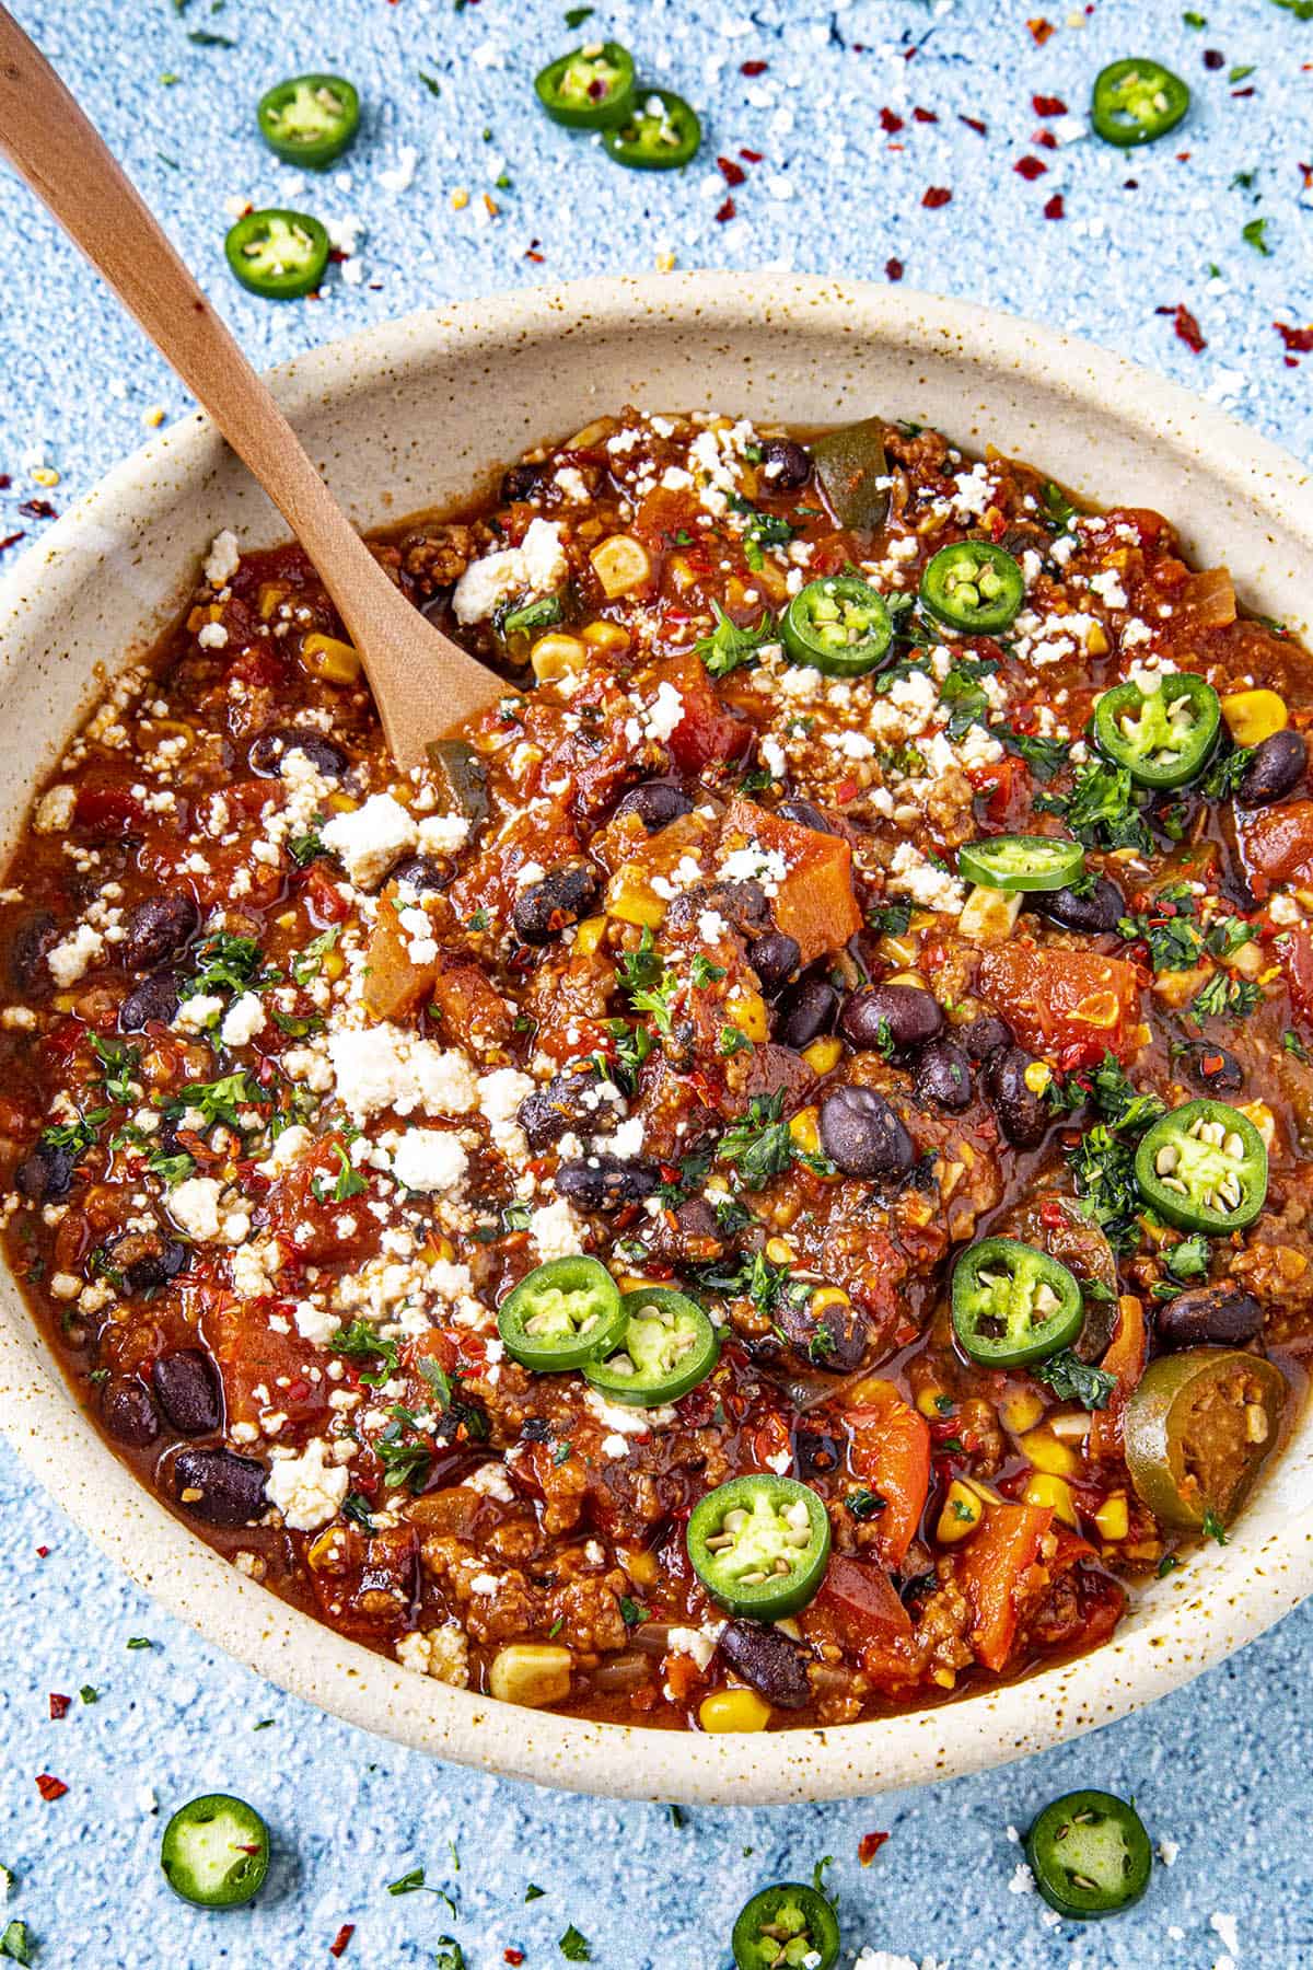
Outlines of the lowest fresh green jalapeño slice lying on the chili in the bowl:
<svg viewBox="0 0 1313 1970">
<path fill-rule="evenodd" d="M 819 1592 L 831 1523 L 809 1485 L 750 1472 L 697 1501 L 687 1544 L 697 1578 L 726 1613 L 783 1621 Z"/>
</svg>

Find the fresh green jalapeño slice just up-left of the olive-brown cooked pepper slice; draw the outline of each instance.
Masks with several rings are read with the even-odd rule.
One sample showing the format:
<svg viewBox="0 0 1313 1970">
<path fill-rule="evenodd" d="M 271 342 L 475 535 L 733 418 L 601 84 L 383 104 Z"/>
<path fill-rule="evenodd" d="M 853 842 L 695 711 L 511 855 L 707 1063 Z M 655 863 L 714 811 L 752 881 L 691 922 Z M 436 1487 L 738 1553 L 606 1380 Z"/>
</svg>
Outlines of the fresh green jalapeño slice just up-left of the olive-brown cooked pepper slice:
<svg viewBox="0 0 1313 1970">
<path fill-rule="evenodd" d="M 1085 1310 L 1059 1259 L 1012 1237 L 970 1245 L 953 1273 L 953 1332 L 982 1367 L 1022 1367 L 1069 1347 Z"/>
</svg>

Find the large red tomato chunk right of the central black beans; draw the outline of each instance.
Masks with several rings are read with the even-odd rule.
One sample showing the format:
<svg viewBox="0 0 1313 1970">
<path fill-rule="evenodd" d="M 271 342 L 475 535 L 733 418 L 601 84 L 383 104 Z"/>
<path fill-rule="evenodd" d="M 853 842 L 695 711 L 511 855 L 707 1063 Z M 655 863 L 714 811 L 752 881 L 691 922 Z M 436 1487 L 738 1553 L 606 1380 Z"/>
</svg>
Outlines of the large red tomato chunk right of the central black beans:
<svg viewBox="0 0 1313 1970">
<path fill-rule="evenodd" d="M 1094 1066 L 1104 1052 L 1136 1050 L 1140 979 L 1134 965 L 1098 952 L 1041 950 L 1028 938 L 980 959 L 976 989 L 1022 1046 L 1061 1066 Z"/>
</svg>

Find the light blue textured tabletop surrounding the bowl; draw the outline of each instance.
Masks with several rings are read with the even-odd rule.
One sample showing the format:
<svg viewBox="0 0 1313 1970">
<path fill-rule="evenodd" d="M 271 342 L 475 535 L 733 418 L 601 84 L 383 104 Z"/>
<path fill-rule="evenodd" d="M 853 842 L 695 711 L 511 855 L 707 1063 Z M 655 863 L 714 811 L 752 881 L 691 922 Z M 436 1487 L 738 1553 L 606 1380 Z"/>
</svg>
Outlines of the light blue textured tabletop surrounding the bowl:
<svg viewBox="0 0 1313 1970">
<path fill-rule="evenodd" d="M 220 0 L 217 12 L 211 0 L 16 0 L 256 362 L 427 299 L 648 270 L 659 252 L 681 266 L 874 280 L 898 258 L 913 286 L 1114 345 L 1307 457 L 1313 359 L 1285 366 L 1272 321 L 1313 319 L 1313 195 L 1301 203 L 1299 171 L 1313 158 L 1301 73 L 1313 63 L 1313 24 L 1262 0 L 1199 0 L 1209 24 L 1197 32 L 1161 0 L 1071 14 L 1049 4 L 1055 32 L 1037 47 L 1026 16 L 1041 6 L 598 8 L 591 28 L 618 33 L 654 77 L 709 112 L 703 160 L 685 177 L 646 177 L 614 171 L 587 140 L 537 118 L 533 69 L 571 41 L 547 0 L 478 0 L 461 12 L 451 0 Z M 195 30 L 238 45 L 195 45 Z M 1033 144 L 1032 93 L 1079 110 L 1104 61 L 1144 47 L 1197 93 L 1173 140 L 1134 158 L 1091 140 Z M 1220 49 L 1224 65 L 1207 71 L 1205 49 Z M 746 79 L 744 61 L 770 67 Z M 299 191 L 250 132 L 250 108 L 258 87 L 307 65 L 356 79 L 366 126 L 344 167 Z M 1254 73 L 1232 83 L 1232 65 Z M 165 75 L 177 81 L 161 85 Z M 915 104 L 939 120 L 913 120 Z M 906 122 L 892 138 L 882 106 Z M 988 138 L 959 114 L 984 118 Z M 748 164 L 734 189 L 738 215 L 717 221 L 726 185 L 713 160 L 740 148 L 764 162 Z M 382 173 L 407 150 L 413 181 L 388 187 Z M 1014 173 L 1022 156 L 1047 173 L 1033 183 Z M 1256 181 L 1232 183 L 1244 171 Z M 496 187 L 500 175 L 508 187 Z M 951 187 L 953 201 L 925 209 L 927 185 Z M 459 189 L 470 193 L 463 211 L 451 203 Z M 24 461 L 39 453 L 59 469 L 61 485 L 43 496 L 63 508 L 142 441 L 156 406 L 173 418 L 187 398 L 31 199 L 8 179 L 4 191 L 0 471 L 14 485 L 0 492 L 0 534 L 33 538 L 41 522 L 20 518 L 18 504 L 41 489 Z M 480 219 L 484 191 L 500 207 L 494 219 Z M 1055 191 L 1061 221 L 1043 217 Z M 358 217 L 360 282 L 335 272 L 321 301 L 283 309 L 238 294 L 222 266 L 228 197 Z M 1268 258 L 1242 240 L 1256 217 L 1268 219 Z M 1175 303 L 1197 315 L 1201 355 L 1156 313 Z M 530 1966 L 561 1964 L 567 1923 L 608 1970 L 722 1970 L 738 1903 L 774 1877 L 809 1875 L 823 1854 L 837 1856 L 850 1950 L 933 1954 L 955 1970 L 1209 1970 L 1224 1950 L 1211 1917 L 1226 1913 L 1242 1964 L 1313 1962 L 1313 1726 L 1303 1710 L 1313 1608 L 1148 1716 L 1026 1765 L 888 1803 L 691 1810 L 675 1826 L 657 1806 L 541 1795 L 441 1767 L 278 1696 L 156 1611 L 31 1493 L 4 1450 L 0 1556 L 0 1862 L 20 1877 L 8 1915 L 30 1925 L 43 1970 L 327 1966 L 343 1923 L 356 1925 L 346 1970 L 433 1966 L 443 1933 L 461 1938 L 470 1970 L 502 1964 L 506 1946 L 526 1950 Z M 152 1649 L 130 1651 L 132 1635 Z M 81 1684 L 98 1686 L 100 1700 L 81 1704 Z M 47 1718 L 49 1690 L 75 1696 L 61 1722 Z M 37 1771 L 69 1793 L 45 1805 Z M 1008 1887 L 1018 1862 L 1008 1824 L 1024 1826 L 1075 1785 L 1134 1793 L 1152 1832 L 1179 1842 L 1134 1915 L 1085 1933 L 1043 1927 L 1041 1905 Z M 205 1917 L 169 1897 L 156 1848 L 173 1805 L 219 1787 L 266 1810 L 278 1858 L 252 1909 Z M 860 1870 L 856 1842 L 874 1828 L 892 1838 Z M 415 1866 L 449 1887 L 455 1915 L 433 1895 L 386 1893 Z M 547 1893 L 526 1907 L 528 1881 Z"/>
</svg>

